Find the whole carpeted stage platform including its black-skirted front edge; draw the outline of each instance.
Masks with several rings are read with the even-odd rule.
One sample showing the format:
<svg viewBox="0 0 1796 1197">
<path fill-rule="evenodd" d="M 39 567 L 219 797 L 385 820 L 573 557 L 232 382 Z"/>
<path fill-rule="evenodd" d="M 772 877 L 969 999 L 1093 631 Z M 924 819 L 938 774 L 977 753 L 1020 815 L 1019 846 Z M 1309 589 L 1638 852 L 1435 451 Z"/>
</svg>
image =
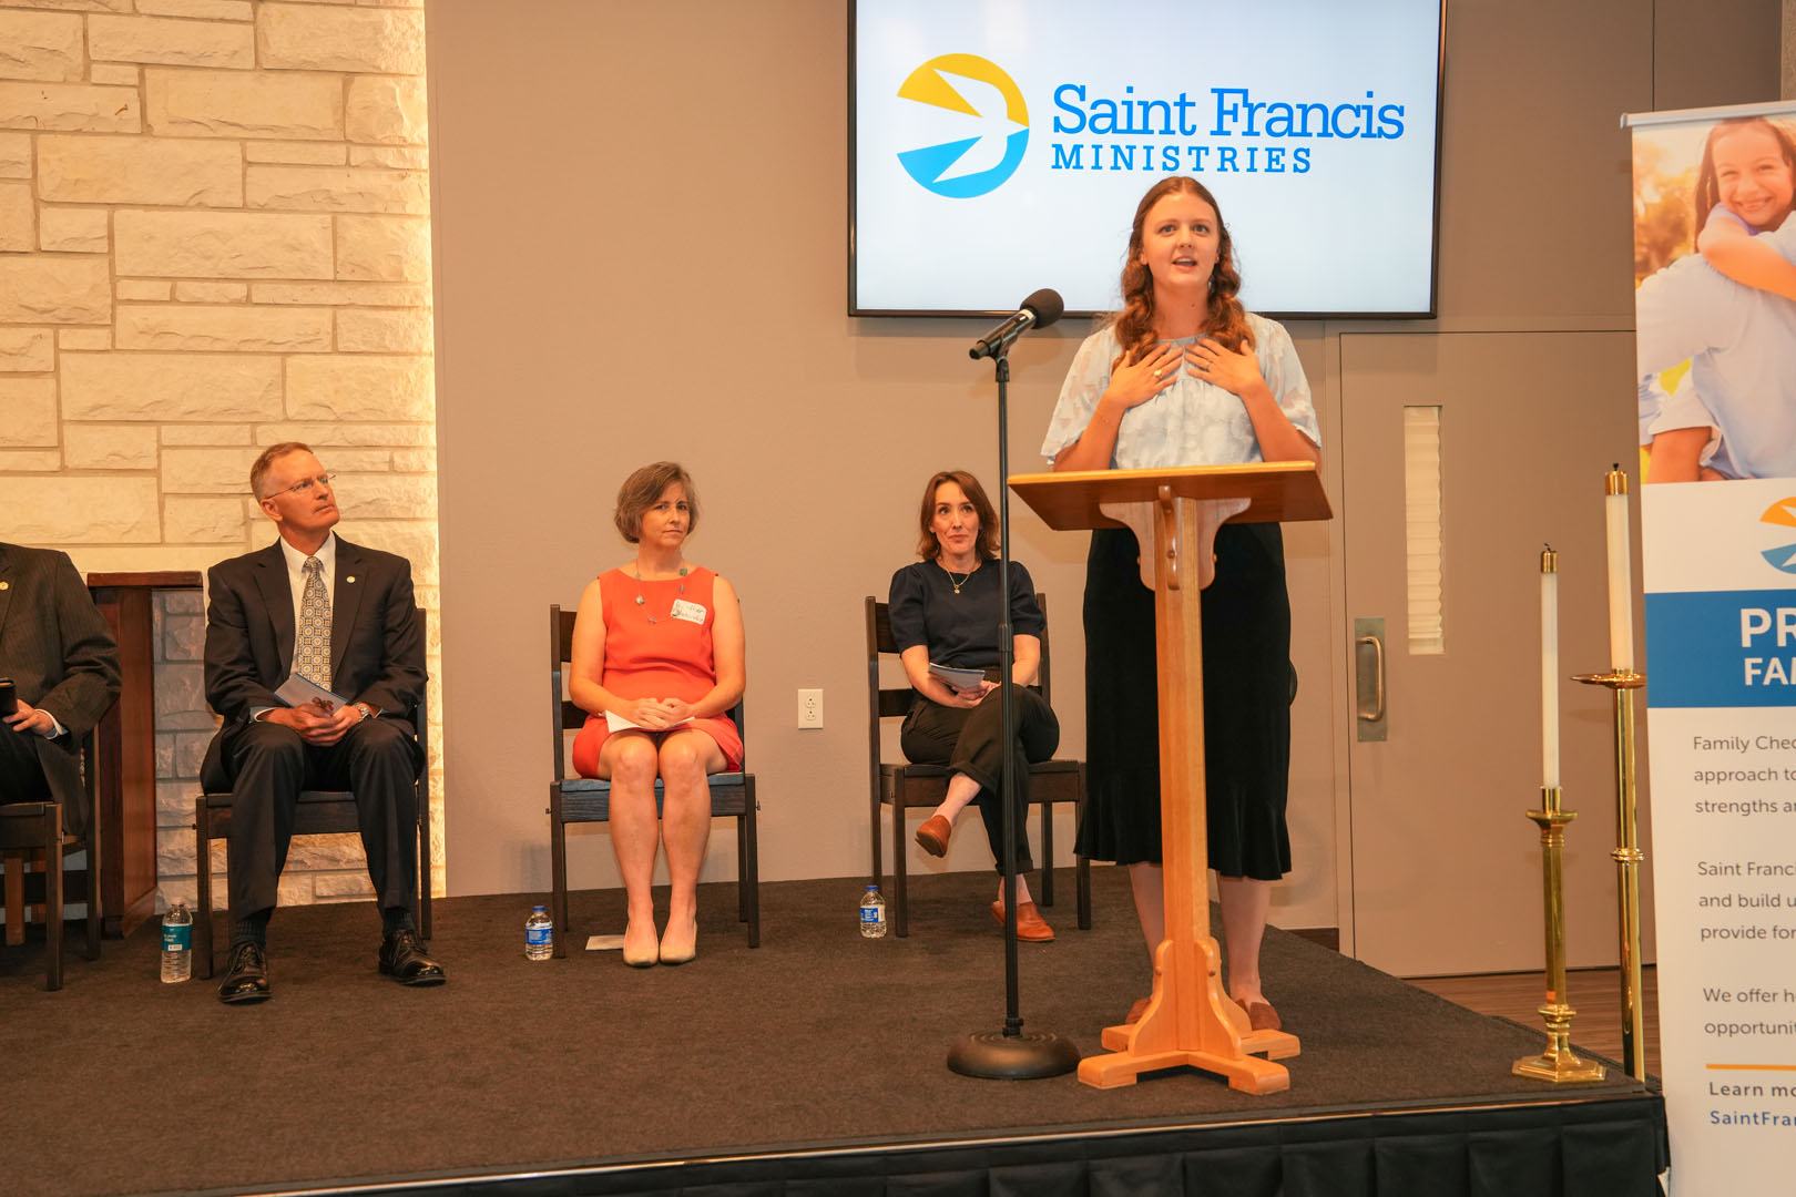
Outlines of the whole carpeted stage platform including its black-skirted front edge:
<svg viewBox="0 0 1796 1197">
<path fill-rule="evenodd" d="M 1060 939 L 1022 946 L 1026 1028 L 1097 1032 L 1148 991 L 1128 879 L 1094 869 L 1094 930 L 1058 876 Z M 375 974 L 368 904 L 282 910 L 275 996 L 223 1007 L 158 982 L 156 926 L 61 992 L 43 944 L 0 949 L 7 1193 L 1212 1193 L 1645 1197 L 1667 1163 L 1656 1088 L 1509 1075 L 1545 1035 L 1272 931 L 1266 991 L 1300 1035 L 1288 1093 L 1193 1071 L 1099 1091 L 943 1061 L 999 1030 L 991 874 L 914 876 L 911 937 L 862 940 L 860 879 L 700 890 L 699 958 L 629 969 L 573 897 L 569 960 L 523 957 L 532 896 L 436 906 L 442 989 Z M 665 892 L 659 894 L 665 906 Z M 546 899 L 544 899 L 546 901 Z"/>
</svg>

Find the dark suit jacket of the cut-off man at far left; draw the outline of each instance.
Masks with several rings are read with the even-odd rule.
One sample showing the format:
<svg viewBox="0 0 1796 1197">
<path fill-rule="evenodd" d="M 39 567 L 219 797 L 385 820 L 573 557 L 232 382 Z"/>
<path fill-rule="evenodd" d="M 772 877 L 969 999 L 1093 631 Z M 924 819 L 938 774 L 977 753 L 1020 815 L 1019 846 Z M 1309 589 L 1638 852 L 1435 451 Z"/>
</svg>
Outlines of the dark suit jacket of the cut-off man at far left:
<svg viewBox="0 0 1796 1197">
<path fill-rule="evenodd" d="M 50 793 L 66 826 L 88 827 L 79 739 L 119 696 L 119 644 L 66 553 L 0 542 L 0 677 L 18 696 L 56 716 L 68 734 L 45 739 L 25 732 L 38 750 Z M 0 725 L 0 736 L 18 736 Z"/>
</svg>

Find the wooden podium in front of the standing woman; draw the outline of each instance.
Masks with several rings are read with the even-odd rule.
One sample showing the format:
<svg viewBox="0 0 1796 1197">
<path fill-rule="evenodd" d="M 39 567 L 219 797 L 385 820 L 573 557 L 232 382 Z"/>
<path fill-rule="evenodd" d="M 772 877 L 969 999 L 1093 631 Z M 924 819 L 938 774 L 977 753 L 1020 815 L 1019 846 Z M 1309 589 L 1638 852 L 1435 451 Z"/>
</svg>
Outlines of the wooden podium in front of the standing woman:
<svg viewBox="0 0 1796 1197">
<path fill-rule="evenodd" d="M 1333 515 L 1316 467 L 1273 461 L 1069 470 L 1015 474 L 1009 486 L 1049 528 L 1133 528 L 1142 544 L 1142 581 L 1153 587 L 1166 940 L 1155 951 L 1148 1010 L 1133 1027 L 1105 1028 L 1110 1053 L 1085 1057 L 1079 1080 L 1112 1089 L 1135 1084 L 1144 1071 L 1189 1064 L 1219 1073 L 1246 1093 L 1290 1089 L 1290 1071 L 1272 1061 L 1297 1055 L 1297 1035 L 1250 1028 L 1246 1012 L 1221 987 L 1211 937 L 1200 592 L 1216 576 L 1212 546 L 1225 520 L 1295 522 Z"/>
</svg>

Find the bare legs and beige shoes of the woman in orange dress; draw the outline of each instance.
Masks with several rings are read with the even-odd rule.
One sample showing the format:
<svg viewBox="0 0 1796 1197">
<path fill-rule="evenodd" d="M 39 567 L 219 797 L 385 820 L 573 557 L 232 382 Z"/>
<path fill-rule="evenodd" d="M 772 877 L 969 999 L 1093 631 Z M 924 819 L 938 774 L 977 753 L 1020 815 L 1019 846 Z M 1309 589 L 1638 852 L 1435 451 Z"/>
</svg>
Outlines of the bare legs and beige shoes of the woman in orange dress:
<svg viewBox="0 0 1796 1197">
<path fill-rule="evenodd" d="M 659 739 L 659 743 L 657 743 Z M 699 867 L 711 834 L 709 773 L 722 772 L 724 750 L 700 730 L 650 736 L 627 730 L 609 736 L 598 754 L 598 775 L 611 779 L 611 843 L 629 922 L 623 931 L 627 964 L 656 958 L 681 964 L 693 955 L 699 935 Z M 661 779 L 661 817 L 656 817 L 656 779 Z M 666 849 L 668 926 L 656 944 L 656 851 Z"/>
</svg>

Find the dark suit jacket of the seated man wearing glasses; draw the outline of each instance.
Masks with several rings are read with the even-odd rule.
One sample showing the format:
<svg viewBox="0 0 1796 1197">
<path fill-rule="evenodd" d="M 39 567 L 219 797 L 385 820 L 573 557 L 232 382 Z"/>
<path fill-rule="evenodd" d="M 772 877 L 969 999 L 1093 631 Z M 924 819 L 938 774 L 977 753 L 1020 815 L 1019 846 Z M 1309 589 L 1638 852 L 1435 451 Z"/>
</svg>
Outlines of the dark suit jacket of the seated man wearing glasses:
<svg viewBox="0 0 1796 1197">
<path fill-rule="evenodd" d="M 224 718 L 199 781 L 232 786 L 230 738 L 250 712 L 284 707 L 275 689 L 293 673 L 293 587 L 280 542 L 219 562 L 207 574 L 207 702 Z M 411 562 L 338 537 L 330 587 L 330 689 L 413 720 L 424 702 L 424 633 L 411 592 Z"/>
</svg>

